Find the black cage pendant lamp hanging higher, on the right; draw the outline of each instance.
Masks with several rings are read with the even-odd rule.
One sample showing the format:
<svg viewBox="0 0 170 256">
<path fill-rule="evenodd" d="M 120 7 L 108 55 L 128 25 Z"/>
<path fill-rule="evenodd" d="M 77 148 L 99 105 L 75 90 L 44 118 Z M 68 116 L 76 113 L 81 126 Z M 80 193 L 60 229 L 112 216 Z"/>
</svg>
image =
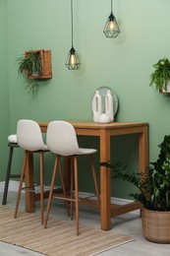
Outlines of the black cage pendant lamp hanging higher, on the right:
<svg viewBox="0 0 170 256">
<path fill-rule="evenodd" d="M 103 32 L 105 36 L 108 38 L 115 38 L 120 33 L 118 23 L 116 21 L 116 18 L 113 15 L 112 0 L 111 0 L 111 14 L 107 19 Z"/>
</svg>

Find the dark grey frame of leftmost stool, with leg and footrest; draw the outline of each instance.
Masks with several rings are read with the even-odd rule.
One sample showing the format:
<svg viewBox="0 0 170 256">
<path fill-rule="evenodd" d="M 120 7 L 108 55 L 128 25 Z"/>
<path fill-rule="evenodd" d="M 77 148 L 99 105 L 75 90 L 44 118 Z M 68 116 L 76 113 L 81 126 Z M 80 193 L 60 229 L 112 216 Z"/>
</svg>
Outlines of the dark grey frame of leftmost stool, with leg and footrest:
<svg viewBox="0 0 170 256">
<path fill-rule="evenodd" d="M 9 136 L 10 137 L 10 136 Z M 7 196 L 8 196 L 8 187 L 9 187 L 9 181 L 11 178 L 20 178 L 21 174 L 12 174 L 11 173 L 11 166 L 12 166 L 12 160 L 13 160 L 13 152 L 15 148 L 20 148 L 18 143 L 9 142 L 8 147 L 10 148 L 9 157 L 8 157 L 8 165 L 7 165 L 7 172 L 6 172 L 6 179 L 5 179 L 5 186 L 4 186 L 4 193 L 3 193 L 3 199 L 2 199 L 2 205 L 6 205 L 7 203 Z"/>
</svg>

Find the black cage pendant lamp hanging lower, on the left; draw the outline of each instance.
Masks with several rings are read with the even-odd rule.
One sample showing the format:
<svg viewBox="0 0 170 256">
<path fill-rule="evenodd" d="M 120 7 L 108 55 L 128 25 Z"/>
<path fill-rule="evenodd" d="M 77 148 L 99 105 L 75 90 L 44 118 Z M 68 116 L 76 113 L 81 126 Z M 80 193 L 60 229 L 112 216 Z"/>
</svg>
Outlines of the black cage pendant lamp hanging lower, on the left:
<svg viewBox="0 0 170 256">
<path fill-rule="evenodd" d="M 67 60 L 66 60 L 66 66 L 69 70 L 77 70 L 79 69 L 81 62 L 79 59 L 79 56 L 73 46 L 73 32 L 74 32 L 74 27 L 73 27 L 73 0 L 71 0 L 71 21 L 72 21 L 72 47 L 69 51 Z"/>
</svg>

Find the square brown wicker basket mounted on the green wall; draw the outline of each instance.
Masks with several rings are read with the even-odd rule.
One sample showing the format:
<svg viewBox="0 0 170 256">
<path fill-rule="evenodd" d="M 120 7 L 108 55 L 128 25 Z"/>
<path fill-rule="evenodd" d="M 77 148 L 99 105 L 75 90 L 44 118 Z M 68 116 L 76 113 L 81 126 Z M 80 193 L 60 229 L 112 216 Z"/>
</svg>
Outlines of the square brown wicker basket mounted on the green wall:
<svg viewBox="0 0 170 256">
<path fill-rule="evenodd" d="M 41 75 L 40 76 L 29 76 L 28 79 L 50 79 L 52 78 L 52 65 L 51 65 L 51 50 L 33 50 L 38 52 L 41 58 Z M 25 55 L 28 56 L 30 51 L 26 51 Z"/>
</svg>

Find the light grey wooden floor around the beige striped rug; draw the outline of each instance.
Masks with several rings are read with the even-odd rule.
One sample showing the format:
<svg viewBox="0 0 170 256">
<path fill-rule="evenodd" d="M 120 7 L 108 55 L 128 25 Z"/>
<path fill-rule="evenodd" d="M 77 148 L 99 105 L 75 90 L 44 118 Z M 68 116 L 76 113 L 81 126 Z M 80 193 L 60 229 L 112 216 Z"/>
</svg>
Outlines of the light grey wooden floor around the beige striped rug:
<svg viewBox="0 0 170 256">
<path fill-rule="evenodd" d="M 2 194 L 0 193 L 0 200 L 2 202 Z M 16 200 L 16 193 L 10 192 L 8 196 L 7 206 L 14 207 Z M 54 215 L 57 204 L 57 218 L 68 219 L 63 203 L 53 202 L 50 214 Z M 20 209 L 25 209 L 24 196 Z M 36 203 L 35 211 L 39 211 L 39 205 Z M 81 207 L 80 222 L 88 224 L 93 227 L 100 227 L 99 214 L 96 209 L 88 209 Z M 114 249 L 98 254 L 99 256 L 167 256 L 170 255 L 170 244 L 156 244 L 147 241 L 142 236 L 141 218 L 137 214 L 126 214 L 112 219 L 112 231 L 122 234 L 127 234 L 136 238 L 135 241 L 121 245 Z M 0 256 L 40 256 L 42 254 L 34 253 L 18 246 L 13 246 L 7 243 L 0 242 Z M 69 255 L 66 255 L 69 256 Z M 80 255 L 84 256 L 84 255 Z"/>
</svg>

